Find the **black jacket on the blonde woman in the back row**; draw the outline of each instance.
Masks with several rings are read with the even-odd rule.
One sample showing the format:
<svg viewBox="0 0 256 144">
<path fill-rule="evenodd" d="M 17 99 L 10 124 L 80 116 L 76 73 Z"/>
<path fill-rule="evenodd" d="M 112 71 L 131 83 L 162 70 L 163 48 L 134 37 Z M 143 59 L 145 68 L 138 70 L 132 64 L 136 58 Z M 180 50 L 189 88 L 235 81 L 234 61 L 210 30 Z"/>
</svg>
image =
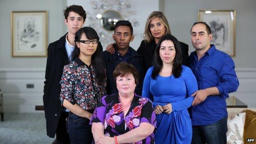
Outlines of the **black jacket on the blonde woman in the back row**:
<svg viewBox="0 0 256 144">
<path fill-rule="evenodd" d="M 188 66 L 188 45 L 179 41 L 182 53 L 182 64 Z M 153 55 L 155 51 L 156 44 L 154 41 L 151 43 L 146 43 L 144 40 L 141 42 L 137 52 L 142 55 L 144 59 L 146 71 L 152 66 Z"/>
</svg>

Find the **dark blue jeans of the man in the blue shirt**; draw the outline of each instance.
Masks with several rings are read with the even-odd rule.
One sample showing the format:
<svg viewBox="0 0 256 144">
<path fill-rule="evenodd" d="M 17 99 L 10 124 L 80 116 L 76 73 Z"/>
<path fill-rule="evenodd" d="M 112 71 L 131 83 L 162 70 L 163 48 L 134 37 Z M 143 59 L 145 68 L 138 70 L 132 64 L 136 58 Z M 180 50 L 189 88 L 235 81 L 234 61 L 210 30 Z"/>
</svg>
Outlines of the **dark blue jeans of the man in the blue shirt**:
<svg viewBox="0 0 256 144">
<path fill-rule="evenodd" d="M 228 117 L 204 126 L 192 126 L 192 144 L 226 144 Z"/>
</svg>

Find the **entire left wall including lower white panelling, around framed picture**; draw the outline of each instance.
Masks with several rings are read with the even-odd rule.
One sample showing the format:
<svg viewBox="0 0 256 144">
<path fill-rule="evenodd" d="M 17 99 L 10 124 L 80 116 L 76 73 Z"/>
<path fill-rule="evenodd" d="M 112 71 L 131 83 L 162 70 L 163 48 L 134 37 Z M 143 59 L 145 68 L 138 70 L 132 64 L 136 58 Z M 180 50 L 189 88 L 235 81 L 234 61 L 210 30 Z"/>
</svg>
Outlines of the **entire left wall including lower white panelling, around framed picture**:
<svg viewBox="0 0 256 144">
<path fill-rule="evenodd" d="M 46 57 L 11 57 L 11 11 L 48 11 L 48 43 L 66 31 L 64 0 L 0 0 L 0 89 L 5 112 L 34 112 L 43 103 Z M 48 46 L 48 44 L 47 44 Z M 34 84 L 27 89 L 26 84 Z"/>
</svg>

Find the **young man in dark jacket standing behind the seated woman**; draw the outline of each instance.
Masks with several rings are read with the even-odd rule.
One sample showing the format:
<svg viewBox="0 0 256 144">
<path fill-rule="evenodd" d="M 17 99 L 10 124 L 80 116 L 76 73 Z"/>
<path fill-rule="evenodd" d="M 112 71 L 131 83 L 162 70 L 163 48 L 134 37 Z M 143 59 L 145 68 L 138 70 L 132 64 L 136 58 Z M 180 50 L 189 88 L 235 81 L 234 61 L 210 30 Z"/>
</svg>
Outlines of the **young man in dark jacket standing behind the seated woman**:
<svg viewBox="0 0 256 144">
<path fill-rule="evenodd" d="M 142 94 L 142 84 L 144 80 L 145 70 L 144 62 L 141 55 L 139 55 L 133 48 L 129 46 L 133 41 L 133 27 L 129 21 L 118 21 L 114 29 L 113 40 L 115 41 L 114 54 L 102 52 L 103 62 L 107 71 L 107 94 L 116 94 L 113 71 L 120 62 L 127 62 L 133 64 L 139 72 L 139 84 L 136 86 L 136 94 Z"/>
</svg>

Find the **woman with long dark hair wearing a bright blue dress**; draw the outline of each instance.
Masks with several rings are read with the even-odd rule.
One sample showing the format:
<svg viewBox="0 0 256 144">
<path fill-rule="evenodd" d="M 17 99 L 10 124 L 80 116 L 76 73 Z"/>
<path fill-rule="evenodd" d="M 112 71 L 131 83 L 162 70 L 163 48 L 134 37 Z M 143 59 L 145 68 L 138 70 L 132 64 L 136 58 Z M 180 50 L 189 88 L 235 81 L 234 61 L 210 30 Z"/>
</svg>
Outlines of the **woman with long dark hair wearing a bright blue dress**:
<svg viewBox="0 0 256 144">
<path fill-rule="evenodd" d="M 189 67 L 182 64 L 178 40 L 167 34 L 156 48 L 153 66 L 144 78 L 142 96 L 152 101 L 157 114 L 155 144 L 190 144 L 192 123 L 187 108 L 198 90 Z"/>
</svg>

